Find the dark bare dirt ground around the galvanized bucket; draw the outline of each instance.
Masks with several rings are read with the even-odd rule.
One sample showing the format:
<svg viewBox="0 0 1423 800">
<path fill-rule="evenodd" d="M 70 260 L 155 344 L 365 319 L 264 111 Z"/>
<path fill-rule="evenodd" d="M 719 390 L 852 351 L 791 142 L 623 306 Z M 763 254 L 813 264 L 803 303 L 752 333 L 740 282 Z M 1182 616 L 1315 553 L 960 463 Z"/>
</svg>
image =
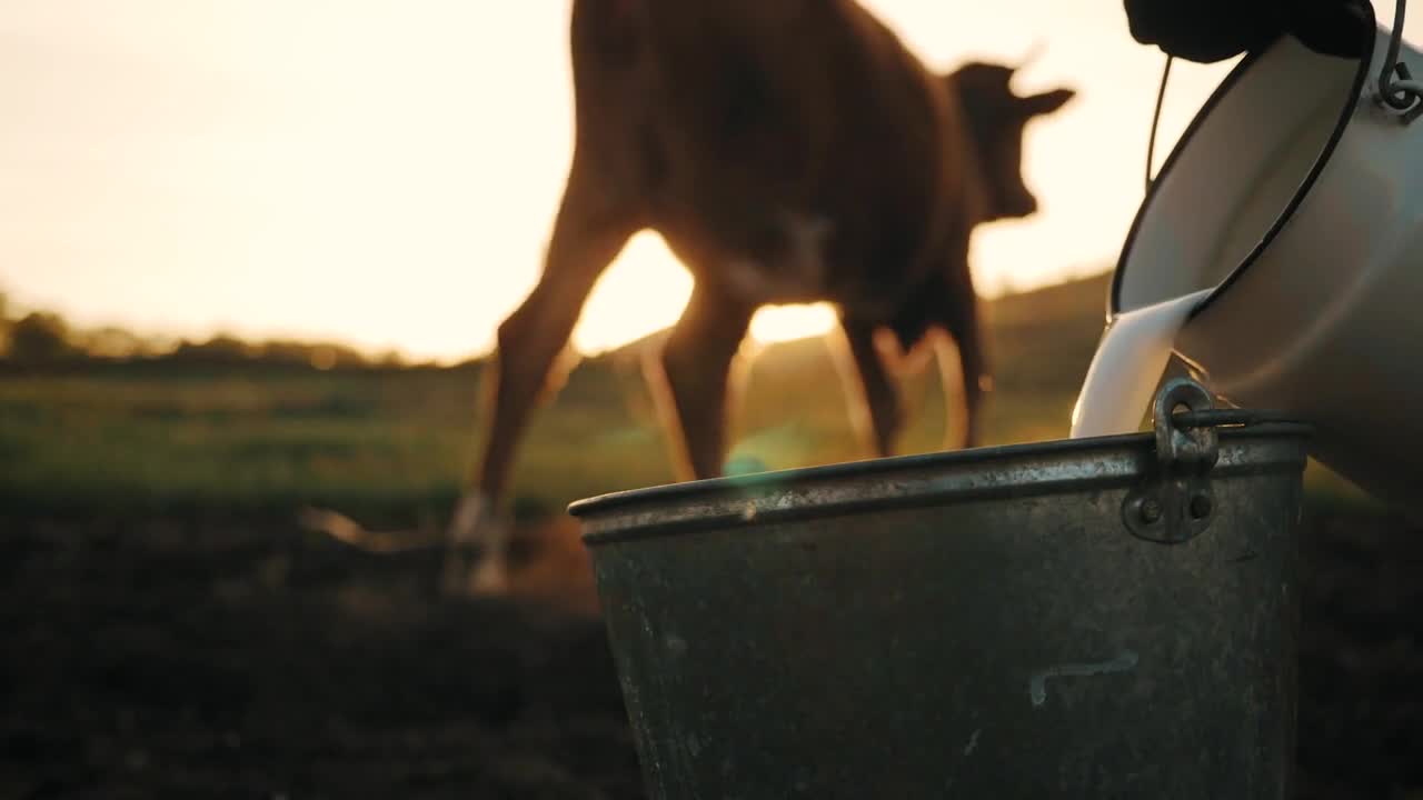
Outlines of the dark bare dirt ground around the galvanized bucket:
<svg viewBox="0 0 1423 800">
<path fill-rule="evenodd" d="M 450 602 L 295 525 L 0 517 L 0 797 L 640 797 L 572 532 Z M 1299 796 L 1423 797 L 1423 531 L 1303 554 Z"/>
</svg>

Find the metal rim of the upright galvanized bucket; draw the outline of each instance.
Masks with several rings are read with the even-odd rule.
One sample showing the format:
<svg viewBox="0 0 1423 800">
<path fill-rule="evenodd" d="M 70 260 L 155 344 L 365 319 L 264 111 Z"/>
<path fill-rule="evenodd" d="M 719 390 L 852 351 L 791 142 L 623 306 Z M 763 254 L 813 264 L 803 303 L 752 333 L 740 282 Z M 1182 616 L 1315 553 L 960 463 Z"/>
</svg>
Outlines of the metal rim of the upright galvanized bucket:
<svg viewBox="0 0 1423 800">
<path fill-rule="evenodd" d="M 1272 467 L 1298 467 L 1299 470 L 1303 470 L 1308 460 L 1306 440 L 1313 434 L 1313 428 L 1312 426 L 1303 423 L 1268 421 L 1249 426 L 1220 427 L 1217 428 L 1217 433 L 1220 437 L 1221 461 L 1211 470 L 1211 474 L 1225 477 L 1242 473 L 1259 473 L 1262 470 L 1269 471 Z M 1296 440 L 1298 448 L 1291 448 L 1288 456 L 1276 454 L 1274 458 L 1241 458 L 1238 456 L 1228 456 L 1232 448 L 1239 450 L 1242 440 L 1268 441 L 1289 438 Z M 666 528 L 667 524 L 684 528 L 687 524 L 694 522 L 696 520 L 693 520 L 693 517 L 697 515 L 683 515 L 676 522 L 669 520 L 667 522 L 647 521 L 619 525 L 596 525 L 593 528 L 588 527 L 588 517 L 609 512 L 616 517 L 618 512 L 628 512 L 639 507 L 667 510 L 675 505 L 703 502 L 710 508 L 723 507 L 734 501 L 740 501 L 744 505 L 747 501 L 754 501 L 756 498 L 761 498 L 768 494 L 780 494 L 780 500 L 773 498 L 773 502 L 770 502 L 767 508 L 757 507 L 754 518 L 747 517 L 743 520 L 744 522 L 751 522 L 753 520 L 766 522 L 787 515 L 803 515 L 815 510 L 834 510 L 840 512 L 850 505 L 857 505 L 844 500 L 830 501 L 805 495 L 807 493 L 813 494 L 815 488 L 824 490 L 827 487 L 842 485 L 847 481 L 857 480 L 885 480 L 892 478 L 896 473 L 904 475 L 922 475 L 924 473 L 949 474 L 963 473 L 973 467 L 993 464 L 998 464 L 1000 470 L 996 473 L 985 470 L 983 473 L 988 478 L 976 481 L 975 485 L 949 485 L 946 481 L 933 481 L 929 478 L 929 483 L 942 483 L 943 485 L 933 488 L 904 487 L 896 493 L 892 493 L 895 494 L 894 500 L 896 507 L 909 507 L 914 500 L 922 501 L 932 498 L 935 501 L 942 501 L 943 498 L 969 498 L 985 494 L 1032 495 L 1053 491 L 1054 488 L 1060 488 L 1063 485 L 1079 485 L 1083 483 L 1100 484 L 1103 488 L 1107 488 L 1109 484 L 1128 484 L 1138 480 L 1151 468 L 1151 464 L 1154 464 L 1154 453 L 1155 436 L 1150 431 L 1083 438 L 1053 438 L 1046 441 L 862 458 L 835 464 L 770 470 L 747 475 L 726 475 L 717 478 L 669 483 L 588 497 L 569 504 L 566 511 L 572 517 L 585 518 L 585 532 L 582 534 L 582 540 L 586 544 L 596 544 L 629 537 L 642 538 L 645 535 L 656 534 L 656 530 Z M 1086 458 L 1093 454 L 1099 456 L 1099 458 Z M 1023 463 L 1030 463 L 1035 458 L 1046 460 L 1063 456 L 1074 456 L 1077 458 L 1070 464 L 1066 464 L 1066 467 L 1060 470 L 1062 474 L 1040 475 L 1033 480 L 1010 478 L 1010 475 L 1017 475 L 1012 470 L 1013 463 L 1022 465 Z M 921 483 L 924 483 L 924 480 L 921 480 Z M 798 494 L 798 497 L 790 497 L 793 494 Z M 703 521 L 720 525 L 727 520 L 729 518 L 723 514 L 720 517 L 707 515 Z"/>
</svg>

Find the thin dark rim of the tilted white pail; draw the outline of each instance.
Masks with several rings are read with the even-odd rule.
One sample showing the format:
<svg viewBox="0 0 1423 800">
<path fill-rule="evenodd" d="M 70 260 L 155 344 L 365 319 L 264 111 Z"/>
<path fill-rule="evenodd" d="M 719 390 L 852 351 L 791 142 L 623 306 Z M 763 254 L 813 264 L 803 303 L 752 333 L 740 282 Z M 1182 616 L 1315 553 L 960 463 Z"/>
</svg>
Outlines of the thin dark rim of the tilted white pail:
<svg viewBox="0 0 1423 800">
<path fill-rule="evenodd" d="M 1349 122 L 1353 120 L 1353 114 L 1359 107 L 1359 101 L 1363 98 L 1365 84 L 1368 84 L 1369 77 L 1372 75 L 1373 56 L 1377 47 L 1379 20 L 1377 14 L 1373 10 L 1373 3 L 1365 0 L 1363 3 L 1360 3 L 1360 6 L 1363 7 L 1366 17 L 1363 20 L 1365 23 L 1363 28 L 1366 31 L 1365 48 L 1363 54 L 1359 56 L 1359 64 L 1355 68 L 1353 84 L 1349 88 L 1348 98 L 1345 100 L 1342 108 L 1339 110 L 1339 118 L 1335 121 L 1335 127 L 1329 132 L 1329 140 L 1325 142 L 1325 147 L 1315 157 L 1313 164 L 1309 167 L 1309 171 L 1305 174 L 1305 178 L 1295 188 L 1295 192 L 1294 195 L 1291 195 L 1289 202 L 1286 202 L 1285 206 L 1279 211 L 1279 214 L 1275 216 L 1275 221 L 1269 225 L 1269 228 L 1265 231 L 1261 239 L 1255 242 L 1255 245 L 1251 248 L 1248 253 L 1245 253 L 1245 256 L 1239 260 L 1239 263 L 1231 268 L 1229 275 L 1227 275 L 1224 280 L 1212 286 L 1210 293 L 1195 303 L 1195 306 L 1190 310 L 1190 313 L 1185 317 L 1187 322 L 1194 320 L 1205 309 L 1211 307 L 1215 303 L 1215 300 L 1222 293 L 1225 293 L 1225 290 L 1229 289 L 1229 286 L 1235 283 L 1245 273 L 1245 270 L 1248 270 L 1257 260 L 1259 260 L 1259 256 L 1264 255 L 1265 249 L 1275 241 L 1279 232 L 1284 231 L 1285 225 L 1294 218 L 1295 212 L 1299 209 L 1299 205 L 1309 195 L 1311 189 L 1313 189 L 1315 182 L 1318 181 L 1321 172 L 1323 172 L 1323 168 L 1329 164 L 1331 158 L 1333 158 L 1335 149 L 1343 140 L 1343 134 L 1349 128 Z M 1161 164 L 1161 169 L 1157 172 L 1155 178 L 1153 178 L 1151 184 L 1147 186 L 1146 196 L 1141 199 L 1141 205 L 1137 206 L 1136 216 L 1131 219 L 1131 228 L 1127 229 L 1127 236 L 1123 241 L 1121 252 L 1117 256 L 1117 265 L 1111 270 L 1111 289 L 1107 295 L 1109 322 L 1116 315 L 1121 313 L 1121 282 L 1127 270 L 1127 259 L 1131 256 L 1131 251 L 1133 246 L 1136 245 L 1136 239 L 1137 235 L 1140 233 L 1141 225 L 1146 222 L 1147 214 L 1150 214 L 1151 204 L 1155 199 L 1157 189 L 1161 185 L 1161 178 L 1164 178 L 1177 165 L 1177 161 L 1180 159 L 1181 154 L 1185 151 L 1185 148 L 1190 147 L 1191 140 L 1195 137 L 1197 132 L 1200 132 L 1201 125 L 1204 125 L 1205 121 L 1211 117 L 1217 105 L 1220 105 L 1221 100 L 1224 100 L 1225 95 L 1229 94 L 1229 91 L 1235 87 L 1235 84 L 1238 84 L 1241 78 L 1249 71 L 1249 68 L 1271 50 L 1272 47 L 1248 53 L 1244 58 L 1241 58 L 1238 64 L 1235 64 L 1235 67 L 1225 75 L 1225 78 L 1221 80 L 1220 85 L 1215 87 L 1211 95 L 1205 100 L 1201 108 L 1191 118 L 1191 122 L 1185 127 L 1185 131 L 1181 132 L 1181 138 L 1177 140 L 1175 145 L 1171 148 L 1170 155 L 1167 155 L 1165 161 Z"/>
</svg>

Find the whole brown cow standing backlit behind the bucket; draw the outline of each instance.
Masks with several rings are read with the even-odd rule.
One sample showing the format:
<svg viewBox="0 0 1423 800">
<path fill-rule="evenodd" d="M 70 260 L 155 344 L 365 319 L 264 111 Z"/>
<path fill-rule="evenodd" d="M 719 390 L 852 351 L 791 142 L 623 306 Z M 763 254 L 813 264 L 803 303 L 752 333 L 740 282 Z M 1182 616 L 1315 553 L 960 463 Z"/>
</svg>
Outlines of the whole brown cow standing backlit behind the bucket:
<svg viewBox="0 0 1423 800">
<path fill-rule="evenodd" d="M 1036 209 L 1023 125 L 1072 90 L 1017 97 L 1013 70 L 992 64 L 933 74 L 852 0 L 575 0 L 571 40 L 572 165 L 542 276 L 498 329 L 445 588 L 504 585 L 501 507 L 528 414 L 564 380 L 593 283 L 643 229 L 694 278 L 647 370 L 682 480 L 720 474 L 733 359 L 773 303 L 840 309 L 844 372 L 867 411 L 857 424 L 881 456 L 899 428 L 892 344 L 952 337 L 956 444 L 973 446 L 988 369 L 969 235 Z"/>
</svg>

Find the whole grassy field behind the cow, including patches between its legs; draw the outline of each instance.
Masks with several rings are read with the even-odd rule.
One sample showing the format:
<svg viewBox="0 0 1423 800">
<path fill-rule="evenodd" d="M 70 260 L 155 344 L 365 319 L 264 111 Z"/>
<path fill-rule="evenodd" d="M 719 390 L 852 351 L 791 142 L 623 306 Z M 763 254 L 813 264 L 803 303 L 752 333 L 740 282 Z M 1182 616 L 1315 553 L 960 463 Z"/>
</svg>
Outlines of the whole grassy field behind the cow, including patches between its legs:
<svg viewBox="0 0 1423 800">
<path fill-rule="evenodd" d="M 1099 276 L 988 309 L 996 390 L 986 444 L 1067 436 L 1101 333 Z M 92 512 L 289 512 L 323 504 L 370 521 L 443 518 L 474 460 L 481 370 L 179 373 L 104 367 L 0 377 L 0 502 Z M 821 340 L 761 352 L 737 414 L 733 457 L 766 468 L 862 458 Z M 901 450 L 938 450 L 943 393 L 931 363 L 905 380 Z M 541 409 L 515 474 L 517 510 L 672 480 L 636 349 L 585 360 Z M 1368 505 L 1326 471 L 1312 502 Z"/>
</svg>

